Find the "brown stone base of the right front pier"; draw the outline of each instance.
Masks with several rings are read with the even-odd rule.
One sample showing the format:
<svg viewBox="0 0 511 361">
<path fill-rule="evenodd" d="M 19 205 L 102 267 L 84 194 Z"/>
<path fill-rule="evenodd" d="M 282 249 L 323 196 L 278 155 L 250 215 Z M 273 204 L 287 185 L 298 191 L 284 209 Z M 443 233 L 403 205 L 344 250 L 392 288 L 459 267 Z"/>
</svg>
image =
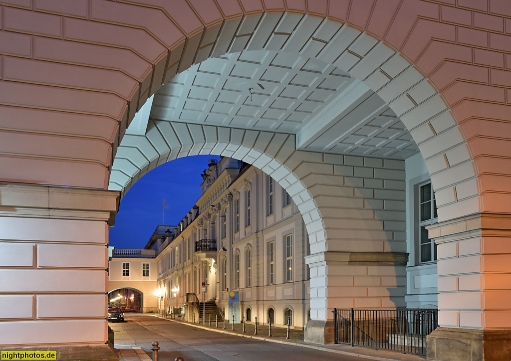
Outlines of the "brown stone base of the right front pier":
<svg viewBox="0 0 511 361">
<path fill-rule="evenodd" d="M 428 360 L 509 361 L 511 330 L 438 327 L 427 345 Z"/>
</svg>

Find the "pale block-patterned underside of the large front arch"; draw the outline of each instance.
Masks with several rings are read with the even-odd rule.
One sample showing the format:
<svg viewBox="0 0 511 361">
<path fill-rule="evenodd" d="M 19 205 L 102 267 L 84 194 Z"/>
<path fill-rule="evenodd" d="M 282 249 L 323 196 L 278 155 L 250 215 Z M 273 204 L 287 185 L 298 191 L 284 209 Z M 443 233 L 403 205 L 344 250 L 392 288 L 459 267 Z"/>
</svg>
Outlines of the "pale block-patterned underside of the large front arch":
<svg viewBox="0 0 511 361">
<path fill-rule="evenodd" d="M 228 29 L 231 21 L 238 20 L 227 20 L 222 29 Z M 250 31 L 245 34 L 247 29 Z M 289 52 L 333 64 L 362 81 L 400 117 L 419 146 L 433 187 L 438 192 L 439 219 L 456 218 L 466 214 L 467 210 L 469 213 L 479 211 L 477 175 L 470 147 L 467 147 L 463 130 L 457 124 L 448 100 L 417 64 L 396 51 L 387 41 L 355 29 L 349 23 L 286 12 L 245 16 L 230 39 L 224 36 L 225 33 L 221 31 L 212 46 L 210 57 L 243 50 Z M 230 45 L 221 47 L 224 42 Z M 186 69 L 182 66 L 182 60 L 176 68 L 178 71 Z M 207 61 L 207 58 L 199 56 L 197 50 L 192 64 L 201 61 Z M 170 74 L 172 77 L 175 75 Z M 166 74 L 164 81 L 171 79 Z M 123 142 L 120 144 L 123 145 Z M 169 146 L 173 145 L 171 143 Z M 130 146 L 133 146 L 131 142 Z M 195 154 L 191 151 L 191 155 Z M 161 161 L 161 157 L 146 159 L 147 169 L 152 169 Z M 113 165 L 112 170 L 115 169 Z M 121 185 L 127 183 L 129 181 Z M 459 192 L 456 198 L 452 197 L 453 189 L 457 191 L 456 194 Z"/>
</svg>

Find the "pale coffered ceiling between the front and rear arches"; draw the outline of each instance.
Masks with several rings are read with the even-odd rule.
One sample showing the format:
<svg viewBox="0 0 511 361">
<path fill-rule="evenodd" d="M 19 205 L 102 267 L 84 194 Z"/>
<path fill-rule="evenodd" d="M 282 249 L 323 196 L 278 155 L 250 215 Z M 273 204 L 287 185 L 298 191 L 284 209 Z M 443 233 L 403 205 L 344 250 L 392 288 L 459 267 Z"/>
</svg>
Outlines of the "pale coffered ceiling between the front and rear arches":
<svg viewBox="0 0 511 361">
<path fill-rule="evenodd" d="M 203 61 L 160 88 L 149 116 L 292 133 L 301 150 L 395 159 L 419 151 L 373 90 L 333 65 L 294 53 L 245 51 Z M 128 133 L 141 127 L 138 118 Z"/>
</svg>

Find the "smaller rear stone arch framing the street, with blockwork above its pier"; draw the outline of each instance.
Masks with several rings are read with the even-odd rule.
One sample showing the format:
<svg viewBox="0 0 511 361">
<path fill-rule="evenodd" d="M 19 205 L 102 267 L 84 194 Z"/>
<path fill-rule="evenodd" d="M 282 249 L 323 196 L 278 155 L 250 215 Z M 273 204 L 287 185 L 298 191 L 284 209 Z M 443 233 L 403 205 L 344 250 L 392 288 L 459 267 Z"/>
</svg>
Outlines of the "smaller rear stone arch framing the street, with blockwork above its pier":
<svg viewBox="0 0 511 361">
<path fill-rule="evenodd" d="M 123 142 L 119 147 L 114 165 L 124 165 L 125 170 L 132 170 L 132 175 L 116 170 L 112 172 L 112 180 L 126 181 L 128 186 L 132 185 L 148 171 L 150 164 L 141 163 L 141 166 L 145 165 L 142 169 L 135 164 L 137 161 L 145 162 L 144 154 L 149 152 L 155 157 L 155 166 L 158 164 L 156 159 L 164 159 L 161 161 L 163 163 L 193 154 L 233 157 L 258 167 L 291 195 L 304 218 L 312 253 L 327 250 L 360 251 L 364 247 L 361 248 L 354 239 L 369 240 L 374 236 L 379 245 L 374 248 L 374 245 L 367 244 L 366 250 L 406 250 L 401 229 L 390 227 L 394 212 L 400 210 L 389 209 L 388 215 L 383 215 L 384 210 L 382 214 L 376 214 L 371 207 L 383 204 L 386 197 L 384 192 L 378 194 L 379 190 L 376 190 L 375 196 L 374 189 L 368 185 L 362 189 L 361 178 L 354 178 L 356 167 L 357 172 L 365 170 L 366 174 L 370 174 L 369 178 L 379 179 L 382 184 L 384 179 L 404 182 L 404 161 L 297 151 L 295 136 L 290 134 L 187 125 L 153 119 L 149 122 L 145 136 L 126 135 L 126 143 Z M 172 141 L 174 146 L 170 149 L 168 142 Z M 153 145 L 161 146 L 159 153 L 156 153 Z M 159 154 L 161 158 L 158 158 Z M 398 201 L 404 203 L 404 188 L 398 187 L 396 191 L 402 193 L 397 197 Z M 355 228 L 368 229 L 368 233 L 354 235 L 344 232 L 341 235 L 341 229 L 347 227 L 346 218 L 359 219 L 360 224 Z M 379 224 L 379 219 L 389 222 L 386 231 Z M 347 228 L 352 228 L 354 224 L 352 222 L 352 226 Z M 329 232 L 332 234 L 329 235 Z M 332 241 L 329 245 L 327 239 Z"/>
</svg>

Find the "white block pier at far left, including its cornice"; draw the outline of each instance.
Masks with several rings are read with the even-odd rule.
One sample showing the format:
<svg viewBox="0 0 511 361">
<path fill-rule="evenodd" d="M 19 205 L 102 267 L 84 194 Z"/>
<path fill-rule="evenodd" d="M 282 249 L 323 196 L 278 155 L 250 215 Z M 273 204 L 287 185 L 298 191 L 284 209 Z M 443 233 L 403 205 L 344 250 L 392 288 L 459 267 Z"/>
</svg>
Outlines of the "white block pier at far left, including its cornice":
<svg viewBox="0 0 511 361">
<path fill-rule="evenodd" d="M 118 205 L 117 191 L 0 184 L 0 347 L 107 344 Z"/>
</svg>

